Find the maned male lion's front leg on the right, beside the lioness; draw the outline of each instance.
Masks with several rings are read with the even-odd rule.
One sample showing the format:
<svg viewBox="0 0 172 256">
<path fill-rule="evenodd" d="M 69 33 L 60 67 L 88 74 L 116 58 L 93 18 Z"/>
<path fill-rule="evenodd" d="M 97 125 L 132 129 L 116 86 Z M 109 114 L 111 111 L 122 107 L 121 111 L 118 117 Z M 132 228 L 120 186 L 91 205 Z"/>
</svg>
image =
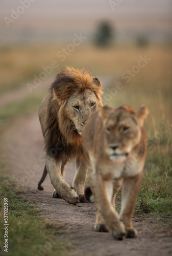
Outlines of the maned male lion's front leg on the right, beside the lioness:
<svg viewBox="0 0 172 256">
<path fill-rule="evenodd" d="M 83 162 L 82 159 L 77 158 L 76 161 L 76 174 L 73 179 L 73 188 L 76 190 L 77 195 L 79 195 L 80 202 L 85 202 L 84 195 L 84 185 L 88 172 L 88 164 L 87 162 Z"/>
</svg>

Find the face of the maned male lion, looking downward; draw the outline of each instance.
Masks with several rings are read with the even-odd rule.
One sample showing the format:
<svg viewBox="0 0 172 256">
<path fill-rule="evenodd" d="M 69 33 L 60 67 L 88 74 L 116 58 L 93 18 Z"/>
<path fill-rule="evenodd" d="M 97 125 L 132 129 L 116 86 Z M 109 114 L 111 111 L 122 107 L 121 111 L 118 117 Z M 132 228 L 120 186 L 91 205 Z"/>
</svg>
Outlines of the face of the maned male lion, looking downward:
<svg viewBox="0 0 172 256">
<path fill-rule="evenodd" d="M 71 95 L 66 102 L 67 115 L 71 120 L 71 130 L 82 135 L 87 118 L 101 107 L 101 102 L 95 93 L 86 89 L 83 93 Z"/>
</svg>

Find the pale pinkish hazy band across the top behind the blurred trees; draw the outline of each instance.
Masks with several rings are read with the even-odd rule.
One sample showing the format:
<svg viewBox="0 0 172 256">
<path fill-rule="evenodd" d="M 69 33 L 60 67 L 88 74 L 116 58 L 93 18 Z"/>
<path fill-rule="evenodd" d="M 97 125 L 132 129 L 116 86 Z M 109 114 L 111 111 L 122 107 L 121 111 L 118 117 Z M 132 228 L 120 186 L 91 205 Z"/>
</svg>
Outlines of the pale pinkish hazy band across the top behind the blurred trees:
<svg viewBox="0 0 172 256">
<path fill-rule="evenodd" d="M 111 7 L 109 1 L 36 0 L 14 22 L 6 24 L 24 0 L 1 1 L 1 42 L 70 39 L 75 33 L 88 38 L 101 20 L 108 20 L 120 40 L 143 34 L 155 40 L 172 38 L 170 0 L 124 0 Z M 29 1 L 29 0 L 28 0 Z M 13 9 L 13 10 L 12 10 Z"/>
</svg>

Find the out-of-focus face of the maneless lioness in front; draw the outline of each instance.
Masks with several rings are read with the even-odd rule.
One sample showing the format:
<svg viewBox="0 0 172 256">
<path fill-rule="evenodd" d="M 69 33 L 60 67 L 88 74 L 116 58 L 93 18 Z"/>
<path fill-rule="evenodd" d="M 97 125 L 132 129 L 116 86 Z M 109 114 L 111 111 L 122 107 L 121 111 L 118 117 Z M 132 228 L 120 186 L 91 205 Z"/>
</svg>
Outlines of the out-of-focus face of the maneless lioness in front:
<svg viewBox="0 0 172 256">
<path fill-rule="evenodd" d="M 107 148 L 111 160 L 124 160 L 140 140 L 137 117 L 127 111 L 113 112 L 105 123 Z"/>
</svg>

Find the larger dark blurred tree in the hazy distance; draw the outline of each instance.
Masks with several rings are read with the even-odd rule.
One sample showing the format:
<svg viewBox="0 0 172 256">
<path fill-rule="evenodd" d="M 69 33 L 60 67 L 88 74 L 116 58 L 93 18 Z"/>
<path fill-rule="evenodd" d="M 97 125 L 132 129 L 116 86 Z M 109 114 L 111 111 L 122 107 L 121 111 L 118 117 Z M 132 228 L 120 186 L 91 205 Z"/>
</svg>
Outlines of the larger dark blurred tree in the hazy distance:
<svg viewBox="0 0 172 256">
<path fill-rule="evenodd" d="M 114 30 L 109 22 L 101 22 L 96 34 L 95 44 L 100 47 L 108 47 L 114 39 Z"/>
</svg>

